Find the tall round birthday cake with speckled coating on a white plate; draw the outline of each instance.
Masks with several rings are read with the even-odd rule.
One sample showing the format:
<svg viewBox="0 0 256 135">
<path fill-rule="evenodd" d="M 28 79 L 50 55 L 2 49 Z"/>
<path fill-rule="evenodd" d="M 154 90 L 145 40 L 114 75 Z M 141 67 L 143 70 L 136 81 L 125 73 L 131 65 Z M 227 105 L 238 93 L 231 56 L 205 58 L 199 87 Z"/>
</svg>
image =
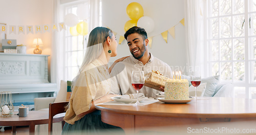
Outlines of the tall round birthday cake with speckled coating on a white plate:
<svg viewBox="0 0 256 135">
<path fill-rule="evenodd" d="M 168 79 L 165 82 L 164 99 L 184 100 L 188 99 L 187 79 Z"/>
</svg>

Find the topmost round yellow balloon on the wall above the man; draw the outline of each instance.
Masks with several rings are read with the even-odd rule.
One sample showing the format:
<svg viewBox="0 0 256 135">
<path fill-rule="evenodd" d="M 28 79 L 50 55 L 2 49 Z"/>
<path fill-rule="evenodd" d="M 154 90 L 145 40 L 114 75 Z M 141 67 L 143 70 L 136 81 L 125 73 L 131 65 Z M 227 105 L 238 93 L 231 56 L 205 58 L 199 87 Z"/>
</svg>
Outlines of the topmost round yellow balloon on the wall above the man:
<svg viewBox="0 0 256 135">
<path fill-rule="evenodd" d="M 126 13 L 131 19 L 138 20 L 143 16 L 144 11 L 139 3 L 133 2 L 126 7 Z"/>
</svg>

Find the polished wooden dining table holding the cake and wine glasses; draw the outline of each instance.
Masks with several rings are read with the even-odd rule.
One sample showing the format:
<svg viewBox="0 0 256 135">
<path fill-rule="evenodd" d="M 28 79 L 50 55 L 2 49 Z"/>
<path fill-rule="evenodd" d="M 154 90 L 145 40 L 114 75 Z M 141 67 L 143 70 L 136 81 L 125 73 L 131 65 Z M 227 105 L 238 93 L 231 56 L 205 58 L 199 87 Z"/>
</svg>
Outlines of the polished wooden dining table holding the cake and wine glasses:
<svg viewBox="0 0 256 135">
<path fill-rule="evenodd" d="M 187 104 L 161 101 L 144 106 L 97 105 L 103 122 L 119 126 L 126 134 L 141 129 L 218 122 L 250 121 L 256 124 L 256 99 L 213 98 Z M 129 129 L 129 130 L 126 130 Z"/>
</svg>

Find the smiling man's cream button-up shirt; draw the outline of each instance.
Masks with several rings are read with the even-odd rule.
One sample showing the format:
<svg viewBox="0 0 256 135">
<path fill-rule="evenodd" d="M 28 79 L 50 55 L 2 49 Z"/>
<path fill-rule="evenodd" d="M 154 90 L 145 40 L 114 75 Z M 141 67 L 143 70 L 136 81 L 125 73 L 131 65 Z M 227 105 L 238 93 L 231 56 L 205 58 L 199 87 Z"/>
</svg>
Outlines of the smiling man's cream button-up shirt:
<svg viewBox="0 0 256 135">
<path fill-rule="evenodd" d="M 118 62 L 111 71 L 111 92 L 112 94 L 134 94 L 137 93 L 131 83 L 133 71 L 144 71 L 144 75 L 154 71 L 159 71 L 168 78 L 173 78 L 172 69 L 165 62 L 154 57 L 151 53 L 151 58 L 148 62 L 143 63 L 135 59 L 132 55 L 121 62 Z M 156 97 L 160 91 L 156 89 L 143 86 L 140 93 L 144 93 L 146 97 Z"/>
</svg>

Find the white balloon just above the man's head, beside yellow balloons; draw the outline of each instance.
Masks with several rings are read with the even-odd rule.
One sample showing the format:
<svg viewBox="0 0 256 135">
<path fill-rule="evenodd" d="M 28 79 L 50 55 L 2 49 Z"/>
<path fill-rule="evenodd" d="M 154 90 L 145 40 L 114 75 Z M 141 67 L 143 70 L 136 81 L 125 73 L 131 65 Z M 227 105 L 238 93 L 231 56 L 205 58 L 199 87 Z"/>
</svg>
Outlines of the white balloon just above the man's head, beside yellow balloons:
<svg viewBox="0 0 256 135">
<path fill-rule="evenodd" d="M 154 30 L 155 22 L 151 17 L 142 16 L 139 18 L 137 26 L 144 28 L 147 33 L 151 33 Z"/>
</svg>

